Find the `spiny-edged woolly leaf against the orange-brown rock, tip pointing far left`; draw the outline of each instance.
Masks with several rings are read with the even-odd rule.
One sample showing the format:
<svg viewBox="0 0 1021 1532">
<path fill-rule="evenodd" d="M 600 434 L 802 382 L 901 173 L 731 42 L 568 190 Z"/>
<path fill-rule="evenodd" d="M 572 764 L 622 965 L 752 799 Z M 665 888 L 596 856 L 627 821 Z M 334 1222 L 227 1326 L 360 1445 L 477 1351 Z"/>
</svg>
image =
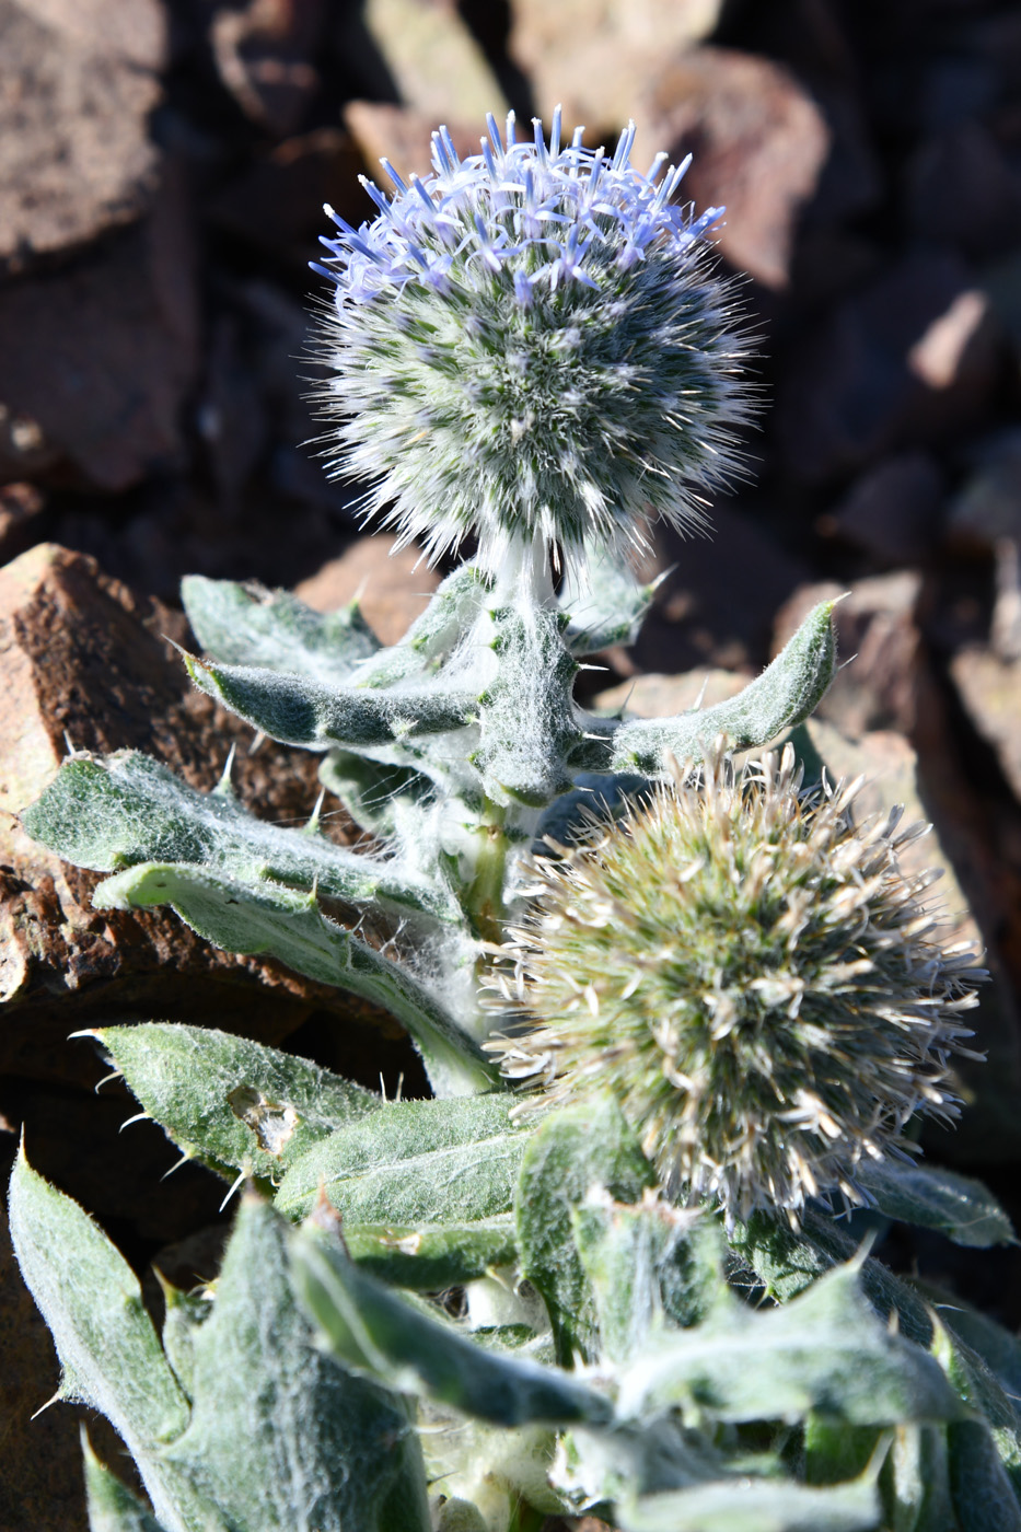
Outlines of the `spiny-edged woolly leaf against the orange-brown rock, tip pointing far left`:
<svg viewBox="0 0 1021 1532">
<path fill-rule="evenodd" d="M 97 872 L 149 861 L 201 863 L 242 882 L 316 887 L 346 904 L 451 913 L 449 898 L 402 876 L 394 863 L 265 824 L 230 794 L 196 792 L 136 751 L 67 761 L 21 818 L 34 840 Z"/>
</svg>

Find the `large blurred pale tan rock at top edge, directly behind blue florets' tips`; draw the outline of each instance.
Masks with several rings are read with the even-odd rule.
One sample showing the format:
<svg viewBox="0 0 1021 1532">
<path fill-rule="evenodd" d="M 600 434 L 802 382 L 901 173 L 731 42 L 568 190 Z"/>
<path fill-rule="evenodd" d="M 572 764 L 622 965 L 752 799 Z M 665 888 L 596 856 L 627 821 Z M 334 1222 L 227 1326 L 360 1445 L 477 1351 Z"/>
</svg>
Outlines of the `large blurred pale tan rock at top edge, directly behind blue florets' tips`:
<svg viewBox="0 0 1021 1532">
<path fill-rule="evenodd" d="M 629 118 L 665 58 L 708 37 L 722 0 L 515 0 L 507 52 L 529 78 L 537 112 L 549 124 L 555 106 L 564 123 L 589 127 L 601 142 Z M 648 158 L 664 146 L 653 144 Z M 642 167 L 644 169 L 644 167 Z"/>
</svg>

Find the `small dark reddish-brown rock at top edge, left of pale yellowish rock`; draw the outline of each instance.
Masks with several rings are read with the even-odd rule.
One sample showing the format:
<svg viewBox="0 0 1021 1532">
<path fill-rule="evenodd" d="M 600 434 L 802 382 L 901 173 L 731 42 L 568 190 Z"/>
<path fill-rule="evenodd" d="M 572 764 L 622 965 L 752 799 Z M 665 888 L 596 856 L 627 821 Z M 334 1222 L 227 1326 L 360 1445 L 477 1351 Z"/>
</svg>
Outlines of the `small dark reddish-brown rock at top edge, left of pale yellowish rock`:
<svg viewBox="0 0 1021 1532">
<path fill-rule="evenodd" d="M 210 26 L 213 58 L 241 110 L 276 138 L 297 132 L 319 92 L 311 57 L 323 0 L 250 0 L 222 6 Z"/>
</svg>

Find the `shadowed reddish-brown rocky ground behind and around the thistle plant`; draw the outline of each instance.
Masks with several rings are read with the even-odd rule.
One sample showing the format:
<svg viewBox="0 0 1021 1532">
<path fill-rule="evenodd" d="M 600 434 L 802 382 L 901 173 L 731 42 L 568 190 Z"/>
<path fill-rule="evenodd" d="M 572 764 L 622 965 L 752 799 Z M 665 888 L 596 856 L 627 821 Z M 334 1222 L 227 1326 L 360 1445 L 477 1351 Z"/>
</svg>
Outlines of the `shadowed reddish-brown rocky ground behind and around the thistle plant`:
<svg viewBox="0 0 1021 1532">
<path fill-rule="evenodd" d="M 0 1157 L 97 1212 L 144 1272 L 215 1261 L 219 1187 L 129 1115 L 97 1019 L 208 1020 L 374 1083 L 399 1030 L 163 916 L 98 916 L 92 879 L 32 847 L 17 810 L 66 749 L 146 748 L 210 786 L 238 740 L 259 812 L 307 815 L 313 763 L 192 694 L 184 573 L 365 582 L 394 639 L 434 576 L 363 538 L 310 414 L 307 270 L 323 201 L 423 169 L 448 121 L 629 116 L 636 156 L 694 153 L 724 202 L 722 260 L 762 337 L 750 476 L 676 565 L 638 645 L 595 689 L 675 711 L 690 673 L 760 668 L 820 593 L 842 673 L 820 748 L 877 801 L 935 823 L 929 859 L 993 984 L 972 1106 L 929 1152 L 1021 1219 L 1021 14 L 993 0 L 0 0 Z M 322 283 L 319 297 L 322 299 Z M 717 674 L 719 673 L 719 674 Z M 730 673 L 722 674 L 722 673 Z M 701 685 L 701 679 L 698 680 Z M 698 686 L 696 686 L 698 689 Z M 336 833 L 343 833 L 334 821 Z M 343 1028 L 337 1022 L 343 1019 Z M 5 1147 L 6 1146 L 6 1147 Z M 212 1230 L 212 1232 L 210 1232 Z M 167 1253 L 166 1247 L 175 1249 Z M 1018 1255 L 888 1249 L 1021 1324 Z M 175 1264 L 176 1262 L 176 1264 Z M 0 1249 L 0 1526 L 78 1532 L 77 1422 Z"/>
</svg>

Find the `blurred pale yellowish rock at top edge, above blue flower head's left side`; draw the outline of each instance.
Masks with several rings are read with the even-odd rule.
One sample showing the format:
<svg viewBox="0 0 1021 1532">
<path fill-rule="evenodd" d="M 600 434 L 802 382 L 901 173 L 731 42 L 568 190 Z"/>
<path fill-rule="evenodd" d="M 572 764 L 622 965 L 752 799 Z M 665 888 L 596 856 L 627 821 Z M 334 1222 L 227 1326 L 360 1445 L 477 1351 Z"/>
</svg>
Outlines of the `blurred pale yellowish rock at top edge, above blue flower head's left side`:
<svg viewBox="0 0 1021 1532">
<path fill-rule="evenodd" d="M 334 47 L 342 57 L 374 52 L 389 84 L 389 90 L 368 92 L 362 86 L 350 95 L 400 101 L 426 118 L 429 129 L 449 126 L 451 118 L 475 124 L 472 153 L 478 153 L 486 112 L 500 118 L 507 109 L 455 0 L 365 0 L 360 6 L 339 6 Z"/>
</svg>

